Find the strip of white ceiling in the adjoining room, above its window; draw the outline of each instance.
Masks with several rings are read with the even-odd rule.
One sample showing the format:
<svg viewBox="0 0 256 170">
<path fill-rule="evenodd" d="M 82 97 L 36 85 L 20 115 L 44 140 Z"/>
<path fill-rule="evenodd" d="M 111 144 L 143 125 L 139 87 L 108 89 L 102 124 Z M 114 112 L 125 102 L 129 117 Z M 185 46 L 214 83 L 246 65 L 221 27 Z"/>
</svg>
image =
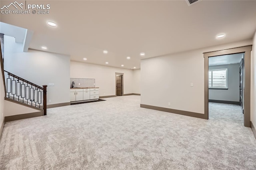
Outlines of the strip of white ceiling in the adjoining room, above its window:
<svg viewBox="0 0 256 170">
<path fill-rule="evenodd" d="M 209 65 L 226 65 L 240 63 L 244 57 L 244 53 L 220 55 L 216 57 L 209 57 Z"/>
</svg>

